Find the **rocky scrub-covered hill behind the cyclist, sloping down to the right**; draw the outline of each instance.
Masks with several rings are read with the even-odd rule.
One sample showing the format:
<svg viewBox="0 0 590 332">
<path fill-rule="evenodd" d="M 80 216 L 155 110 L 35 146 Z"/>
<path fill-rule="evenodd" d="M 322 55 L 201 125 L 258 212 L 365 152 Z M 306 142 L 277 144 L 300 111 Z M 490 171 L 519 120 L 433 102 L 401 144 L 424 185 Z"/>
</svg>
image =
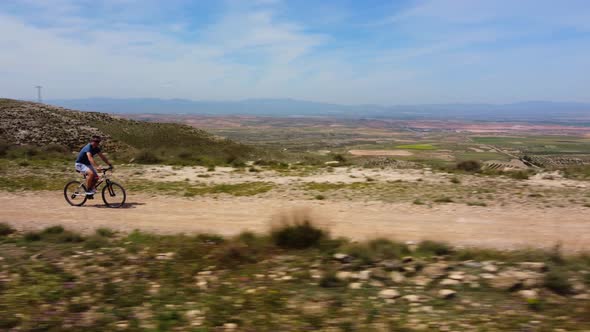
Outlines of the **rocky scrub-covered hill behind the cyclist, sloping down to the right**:
<svg viewBox="0 0 590 332">
<path fill-rule="evenodd" d="M 81 112 L 45 104 L 0 99 L 0 140 L 11 145 L 58 145 L 80 149 L 92 135 L 120 158 L 158 162 L 232 162 L 255 149 L 215 137 L 203 130 L 172 123 L 147 123 L 105 113 Z"/>
</svg>

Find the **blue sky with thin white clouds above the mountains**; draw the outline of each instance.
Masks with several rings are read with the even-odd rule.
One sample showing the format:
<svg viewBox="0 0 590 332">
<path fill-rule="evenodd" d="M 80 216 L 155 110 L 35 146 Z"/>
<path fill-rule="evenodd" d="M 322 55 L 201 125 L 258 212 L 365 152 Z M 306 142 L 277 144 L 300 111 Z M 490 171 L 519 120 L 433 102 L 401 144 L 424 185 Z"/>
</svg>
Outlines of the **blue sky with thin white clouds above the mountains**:
<svg viewBox="0 0 590 332">
<path fill-rule="evenodd" d="M 590 102 L 590 1 L 3 0 L 0 96 Z"/>
</svg>

